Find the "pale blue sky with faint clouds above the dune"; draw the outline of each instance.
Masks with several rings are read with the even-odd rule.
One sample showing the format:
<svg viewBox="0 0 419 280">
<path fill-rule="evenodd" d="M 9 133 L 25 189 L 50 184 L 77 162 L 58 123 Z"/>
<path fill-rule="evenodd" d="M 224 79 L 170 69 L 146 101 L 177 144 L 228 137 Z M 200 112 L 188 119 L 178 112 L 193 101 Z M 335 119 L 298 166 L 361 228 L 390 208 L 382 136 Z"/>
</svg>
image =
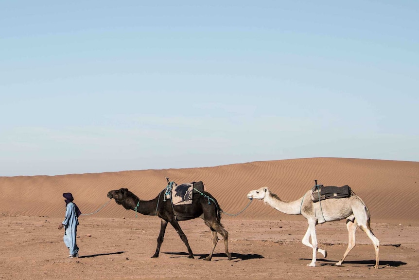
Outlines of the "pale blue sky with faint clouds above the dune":
<svg viewBox="0 0 419 280">
<path fill-rule="evenodd" d="M 419 161 L 419 1 L 0 2 L 0 176 Z"/>
</svg>

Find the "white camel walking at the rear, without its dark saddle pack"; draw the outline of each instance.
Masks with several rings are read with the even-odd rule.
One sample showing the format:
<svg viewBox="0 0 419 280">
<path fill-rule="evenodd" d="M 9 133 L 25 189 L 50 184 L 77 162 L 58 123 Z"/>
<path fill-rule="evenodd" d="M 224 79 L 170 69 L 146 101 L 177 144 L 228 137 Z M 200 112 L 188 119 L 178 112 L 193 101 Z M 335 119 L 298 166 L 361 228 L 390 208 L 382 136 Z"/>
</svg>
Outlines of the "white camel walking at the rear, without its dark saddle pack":
<svg viewBox="0 0 419 280">
<path fill-rule="evenodd" d="M 309 227 L 302 239 L 302 243 L 313 248 L 313 259 L 307 264 L 308 266 L 315 266 L 316 251 L 321 253 L 325 258 L 327 251 L 317 247 L 317 238 L 315 232 L 316 224 L 325 222 L 338 221 L 348 219 L 346 227 L 349 233 L 349 243 L 342 260 L 335 263 L 335 265 L 342 265 L 350 250 L 355 247 L 355 230 L 358 225 L 369 239 L 371 239 L 375 248 L 375 268 L 378 268 L 378 250 L 380 241 L 375 237 L 370 227 L 370 214 L 367 205 L 353 192 L 348 198 L 332 198 L 319 202 L 313 202 L 311 199 L 312 190 L 307 191 L 303 197 L 292 202 L 284 202 L 279 197 L 269 191 L 267 187 L 262 187 L 257 190 L 252 190 L 247 194 L 249 199 L 263 199 L 265 204 L 271 205 L 278 211 L 290 215 L 303 215 L 307 219 Z M 311 236 L 312 243 L 309 242 Z"/>
</svg>

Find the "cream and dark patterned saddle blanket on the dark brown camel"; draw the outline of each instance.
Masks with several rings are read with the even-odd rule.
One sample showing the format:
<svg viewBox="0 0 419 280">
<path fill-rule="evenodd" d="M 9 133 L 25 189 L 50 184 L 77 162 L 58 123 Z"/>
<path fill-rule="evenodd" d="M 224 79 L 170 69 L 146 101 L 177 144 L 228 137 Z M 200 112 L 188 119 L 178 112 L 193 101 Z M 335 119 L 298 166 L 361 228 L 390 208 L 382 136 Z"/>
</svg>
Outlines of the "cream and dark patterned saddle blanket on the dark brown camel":
<svg viewBox="0 0 419 280">
<path fill-rule="evenodd" d="M 192 197 L 194 193 L 204 191 L 204 183 L 202 181 L 184 183 L 181 185 L 173 184 L 172 190 L 166 193 L 166 198 L 170 199 L 172 196 L 173 205 L 192 204 Z"/>
</svg>

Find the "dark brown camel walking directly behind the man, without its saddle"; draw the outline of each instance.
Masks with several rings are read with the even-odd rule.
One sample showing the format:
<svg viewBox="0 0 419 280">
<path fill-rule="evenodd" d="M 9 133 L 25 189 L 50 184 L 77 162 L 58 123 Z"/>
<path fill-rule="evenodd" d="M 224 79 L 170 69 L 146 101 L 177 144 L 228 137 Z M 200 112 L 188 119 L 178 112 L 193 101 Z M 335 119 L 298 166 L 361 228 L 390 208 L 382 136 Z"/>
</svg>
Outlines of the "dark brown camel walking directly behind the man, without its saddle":
<svg viewBox="0 0 419 280">
<path fill-rule="evenodd" d="M 157 248 L 152 258 L 158 258 L 167 223 L 170 223 L 179 234 L 180 239 L 188 248 L 189 258 L 193 259 L 193 254 L 191 247 L 189 246 L 188 239 L 180 228 L 178 221 L 186 221 L 199 217 L 204 219 L 205 224 L 209 226 L 212 231 L 212 248 L 210 255 L 205 258 L 205 260 L 210 261 L 212 258 L 212 253 L 214 252 L 215 246 L 218 243 L 217 232 L 223 236 L 224 245 L 226 247 L 226 254 L 228 260 L 231 260 L 231 253 L 228 252 L 228 232 L 220 223 L 221 208 L 215 198 L 213 198 L 210 193 L 204 191 L 203 194 L 210 197 L 213 201 L 210 201 L 208 198 L 199 193 L 194 193 L 192 204 L 172 206 L 170 199 L 164 201 L 165 192 L 166 189 L 162 190 L 155 199 L 144 201 L 140 200 L 127 188 L 120 188 L 119 190 L 109 191 L 107 197 L 115 199 L 117 204 L 122 205 L 127 210 L 135 210 L 137 208 L 137 211 L 143 215 L 157 215 L 161 219 L 160 233 L 158 234 L 157 238 Z M 175 210 L 175 213 L 173 210 Z M 176 218 L 174 214 L 176 215 Z"/>
</svg>

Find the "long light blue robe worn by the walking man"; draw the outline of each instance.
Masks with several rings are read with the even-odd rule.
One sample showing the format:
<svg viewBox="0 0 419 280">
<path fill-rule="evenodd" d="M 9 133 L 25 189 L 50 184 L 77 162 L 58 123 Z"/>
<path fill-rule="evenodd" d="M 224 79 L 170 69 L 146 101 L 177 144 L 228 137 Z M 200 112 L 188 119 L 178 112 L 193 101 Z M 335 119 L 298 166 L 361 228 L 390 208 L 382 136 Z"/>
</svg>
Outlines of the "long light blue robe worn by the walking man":
<svg viewBox="0 0 419 280">
<path fill-rule="evenodd" d="M 64 243 L 67 248 L 70 249 L 70 255 L 75 255 L 79 251 L 77 247 L 76 236 L 77 236 L 77 225 L 79 220 L 77 219 L 77 208 L 74 203 L 69 202 L 66 206 L 66 218 L 63 223 L 65 225 Z"/>
</svg>

